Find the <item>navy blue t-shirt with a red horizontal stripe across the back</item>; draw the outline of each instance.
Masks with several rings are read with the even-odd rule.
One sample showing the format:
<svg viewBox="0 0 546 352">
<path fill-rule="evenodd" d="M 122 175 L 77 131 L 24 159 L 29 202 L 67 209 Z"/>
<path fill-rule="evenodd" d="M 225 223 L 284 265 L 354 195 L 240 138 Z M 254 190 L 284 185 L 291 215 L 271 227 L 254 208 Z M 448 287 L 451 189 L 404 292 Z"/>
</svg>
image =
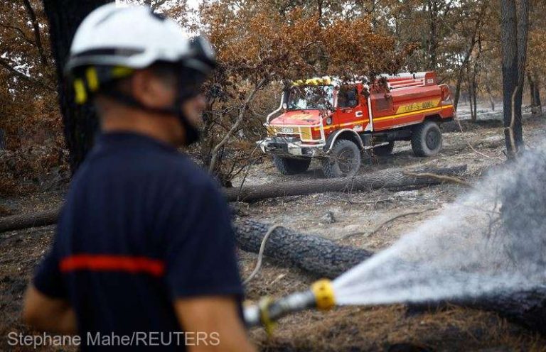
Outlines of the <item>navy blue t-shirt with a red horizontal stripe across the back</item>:
<svg viewBox="0 0 546 352">
<path fill-rule="evenodd" d="M 243 292 L 230 212 L 215 182 L 175 148 L 133 133 L 98 138 L 33 283 L 72 304 L 85 350 L 101 347 L 85 343 L 105 334 L 183 331 L 178 297 Z M 170 337 L 168 347 L 184 349 Z"/>
</svg>

